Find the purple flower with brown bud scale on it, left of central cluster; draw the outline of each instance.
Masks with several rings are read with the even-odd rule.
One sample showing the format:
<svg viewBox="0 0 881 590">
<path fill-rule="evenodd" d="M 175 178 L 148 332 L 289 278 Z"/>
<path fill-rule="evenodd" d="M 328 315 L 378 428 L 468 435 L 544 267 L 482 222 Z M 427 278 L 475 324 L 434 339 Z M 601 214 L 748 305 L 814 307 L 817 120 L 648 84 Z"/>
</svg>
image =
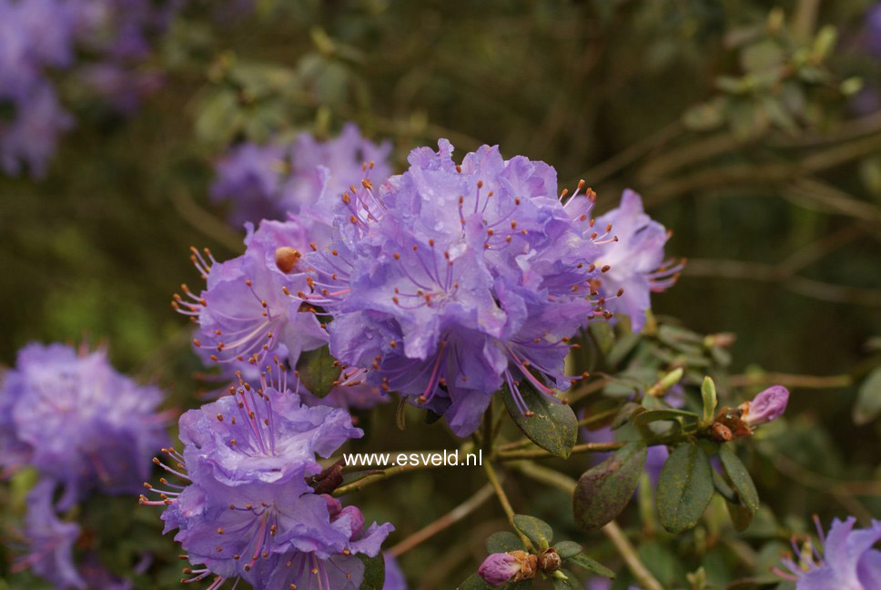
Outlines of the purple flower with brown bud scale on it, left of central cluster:
<svg viewBox="0 0 881 590">
<path fill-rule="evenodd" d="M 299 270 L 300 252 L 309 248 L 305 231 L 294 220 L 247 225 L 245 253 L 217 262 L 197 250 L 193 259 L 206 279 L 198 296 L 184 285 L 184 297 L 172 305 L 198 323 L 194 343 L 212 361 L 234 370 L 262 368 L 269 355 L 296 366 L 302 351 L 328 342 L 328 335 L 298 296 L 309 290 Z"/>
</svg>

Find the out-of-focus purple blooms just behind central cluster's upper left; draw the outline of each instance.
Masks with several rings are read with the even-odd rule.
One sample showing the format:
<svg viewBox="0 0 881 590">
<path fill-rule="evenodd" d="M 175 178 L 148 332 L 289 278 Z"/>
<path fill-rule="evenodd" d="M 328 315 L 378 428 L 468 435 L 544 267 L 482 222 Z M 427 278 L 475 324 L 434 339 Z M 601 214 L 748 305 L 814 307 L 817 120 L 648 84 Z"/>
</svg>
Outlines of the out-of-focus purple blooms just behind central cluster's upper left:
<svg viewBox="0 0 881 590">
<path fill-rule="evenodd" d="M 327 141 L 301 133 L 292 143 L 246 143 L 218 160 L 211 195 L 231 203 L 235 225 L 290 214 L 309 229 L 310 240 L 324 246 L 333 223 L 331 203 L 362 178 L 388 178 L 390 151 L 390 143 L 368 141 L 352 123 Z"/>
</svg>

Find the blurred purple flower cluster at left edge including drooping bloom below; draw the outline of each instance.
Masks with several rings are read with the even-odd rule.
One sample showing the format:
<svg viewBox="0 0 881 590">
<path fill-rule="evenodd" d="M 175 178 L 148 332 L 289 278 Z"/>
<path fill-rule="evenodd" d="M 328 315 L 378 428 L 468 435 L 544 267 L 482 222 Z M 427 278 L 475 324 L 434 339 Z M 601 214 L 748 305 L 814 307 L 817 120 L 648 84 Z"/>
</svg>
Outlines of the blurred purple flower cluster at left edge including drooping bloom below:
<svg viewBox="0 0 881 590">
<path fill-rule="evenodd" d="M 0 464 L 35 468 L 40 481 L 27 495 L 26 554 L 30 568 L 59 588 L 130 587 L 91 556 L 75 564 L 81 529 L 59 514 L 88 493 L 135 494 L 150 457 L 167 444 L 164 395 L 114 371 L 106 351 L 30 344 L 0 389 Z M 63 488 L 56 501 L 59 485 Z"/>
</svg>

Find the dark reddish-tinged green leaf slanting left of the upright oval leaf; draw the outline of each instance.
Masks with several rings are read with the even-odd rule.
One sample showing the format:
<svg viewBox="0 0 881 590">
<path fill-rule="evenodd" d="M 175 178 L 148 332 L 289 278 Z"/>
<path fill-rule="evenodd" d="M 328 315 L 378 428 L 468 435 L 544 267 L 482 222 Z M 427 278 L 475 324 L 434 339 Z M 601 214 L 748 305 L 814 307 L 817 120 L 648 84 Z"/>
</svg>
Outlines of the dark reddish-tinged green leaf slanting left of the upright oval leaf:
<svg viewBox="0 0 881 590">
<path fill-rule="evenodd" d="M 575 522 L 582 530 L 595 531 L 621 514 L 633 497 L 647 455 L 642 442 L 628 442 L 582 473 L 572 494 Z"/>
</svg>

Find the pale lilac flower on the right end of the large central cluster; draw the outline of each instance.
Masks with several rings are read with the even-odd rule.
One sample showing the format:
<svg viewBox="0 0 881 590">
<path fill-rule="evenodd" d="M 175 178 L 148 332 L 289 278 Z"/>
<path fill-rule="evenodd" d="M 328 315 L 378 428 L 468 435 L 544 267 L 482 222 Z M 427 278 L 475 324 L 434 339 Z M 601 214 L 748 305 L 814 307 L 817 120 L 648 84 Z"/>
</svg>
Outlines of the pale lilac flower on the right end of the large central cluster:
<svg viewBox="0 0 881 590">
<path fill-rule="evenodd" d="M 618 240 L 603 245 L 596 260 L 598 266 L 611 268 L 597 282 L 601 294 L 611 297 L 623 289 L 623 295 L 609 300 L 607 307 L 628 315 L 633 331 L 643 329 L 645 312 L 652 307 L 650 294 L 670 287 L 682 264 L 663 264 L 663 245 L 669 234 L 663 225 L 643 211 L 643 200 L 626 189 L 621 205 L 596 219 L 597 227 L 611 225 Z"/>
</svg>

